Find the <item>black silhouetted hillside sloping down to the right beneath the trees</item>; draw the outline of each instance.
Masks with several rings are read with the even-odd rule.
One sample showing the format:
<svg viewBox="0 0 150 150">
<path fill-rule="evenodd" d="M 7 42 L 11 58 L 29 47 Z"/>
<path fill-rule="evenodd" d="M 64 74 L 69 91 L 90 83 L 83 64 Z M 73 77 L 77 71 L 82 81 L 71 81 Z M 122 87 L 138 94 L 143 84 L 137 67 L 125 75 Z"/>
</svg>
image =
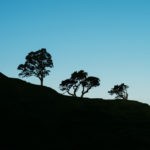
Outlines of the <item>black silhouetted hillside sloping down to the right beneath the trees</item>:
<svg viewBox="0 0 150 150">
<path fill-rule="evenodd" d="M 150 149 L 150 106 L 63 96 L 0 73 L 0 149 Z"/>
</svg>

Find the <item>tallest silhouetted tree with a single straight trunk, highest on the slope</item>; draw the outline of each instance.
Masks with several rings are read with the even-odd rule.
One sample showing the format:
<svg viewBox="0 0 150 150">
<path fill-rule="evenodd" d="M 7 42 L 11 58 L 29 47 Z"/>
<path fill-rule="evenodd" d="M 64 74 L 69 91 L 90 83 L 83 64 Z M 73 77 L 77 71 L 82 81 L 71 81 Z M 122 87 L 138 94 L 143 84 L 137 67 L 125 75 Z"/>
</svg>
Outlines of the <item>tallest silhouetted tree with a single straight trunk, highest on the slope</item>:
<svg viewBox="0 0 150 150">
<path fill-rule="evenodd" d="M 18 70 L 21 70 L 19 76 L 30 77 L 36 76 L 41 81 L 43 86 L 43 79 L 49 75 L 50 70 L 48 68 L 53 67 L 53 61 L 51 55 L 46 51 L 45 48 L 30 52 L 26 56 L 24 64 L 18 66 Z"/>
</svg>

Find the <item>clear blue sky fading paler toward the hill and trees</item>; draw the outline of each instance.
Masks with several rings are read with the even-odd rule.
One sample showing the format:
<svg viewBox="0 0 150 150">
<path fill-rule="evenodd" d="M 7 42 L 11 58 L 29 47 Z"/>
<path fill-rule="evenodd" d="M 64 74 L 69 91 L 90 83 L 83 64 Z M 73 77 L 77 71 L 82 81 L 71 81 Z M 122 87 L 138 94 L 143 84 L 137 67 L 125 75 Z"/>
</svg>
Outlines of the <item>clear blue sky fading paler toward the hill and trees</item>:
<svg viewBox="0 0 150 150">
<path fill-rule="evenodd" d="M 46 86 L 61 93 L 61 81 L 83 69 L 101 80 L 86 97 L 114 98 L 108 91 L 125 83 L 129 99 L 150 104 L 149 8 L 149 0 L 0 0 L 0 72 L 18 78 L 25 56 L 46 48 L 54 63 Z"/>
</svg>

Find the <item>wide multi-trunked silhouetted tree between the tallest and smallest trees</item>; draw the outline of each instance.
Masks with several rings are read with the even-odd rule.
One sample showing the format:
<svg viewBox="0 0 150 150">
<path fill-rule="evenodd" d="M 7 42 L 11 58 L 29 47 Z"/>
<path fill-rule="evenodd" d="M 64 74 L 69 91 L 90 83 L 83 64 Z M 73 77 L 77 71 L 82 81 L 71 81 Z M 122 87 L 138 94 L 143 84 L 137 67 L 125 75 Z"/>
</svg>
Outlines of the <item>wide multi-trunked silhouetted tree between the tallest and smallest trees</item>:
<svg viewBox="0 0 150 150">
<path fill-rule="evenodd" d="M 96 77 L 88 77 L 84 70 L 75 71 L 69 79 L 61 82 L 60 90 L 67 92 L 71 96 L 77 96 L 77 92 L 82 87 L 81 97 L 88 93 L 92 87 L 100 85 L 100 80 Z"/>
</svg>

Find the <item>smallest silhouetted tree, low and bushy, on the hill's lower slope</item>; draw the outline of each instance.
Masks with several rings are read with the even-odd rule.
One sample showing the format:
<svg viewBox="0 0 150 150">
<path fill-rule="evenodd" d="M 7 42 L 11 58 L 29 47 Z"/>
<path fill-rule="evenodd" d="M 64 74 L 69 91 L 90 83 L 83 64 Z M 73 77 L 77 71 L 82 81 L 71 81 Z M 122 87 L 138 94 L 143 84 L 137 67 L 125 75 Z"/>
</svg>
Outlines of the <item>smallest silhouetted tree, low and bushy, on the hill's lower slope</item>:
<svg viewBox="0 0 150 150">
<path fill-rule="evenodd" d="M 110 95 L 116 94 L 116 98 L 121 98 L 124 100 L 128 99 L 128 93 L 127 93 L 127 89 L 129 88 L 129 86 L 125 85 L 124 83 L 120 84 L 120 85 L 115 85 L 114 88 L 112 88 L 110 91 L 108 91 L 108 93 Z"/>
</svg>

